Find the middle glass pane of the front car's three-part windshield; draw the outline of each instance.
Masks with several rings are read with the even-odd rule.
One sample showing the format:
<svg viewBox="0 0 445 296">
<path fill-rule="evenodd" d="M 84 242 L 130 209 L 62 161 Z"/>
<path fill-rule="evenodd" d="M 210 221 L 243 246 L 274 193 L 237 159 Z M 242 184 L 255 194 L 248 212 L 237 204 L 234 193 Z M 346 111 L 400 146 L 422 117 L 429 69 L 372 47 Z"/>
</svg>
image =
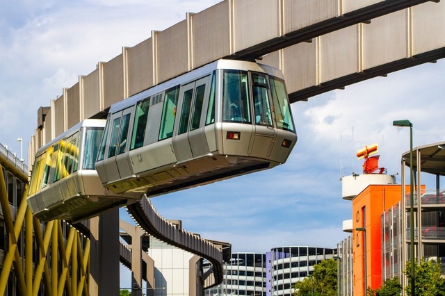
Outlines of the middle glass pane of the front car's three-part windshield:
<svg viewBox="0 0 445 296">
<path fill-rule="evenodd" d="M 252 73 L 252 83 L 255 123 L 264 126 L 272 126 L 272 114 L 270 110 L 266 75 Z"/>
</svg>

